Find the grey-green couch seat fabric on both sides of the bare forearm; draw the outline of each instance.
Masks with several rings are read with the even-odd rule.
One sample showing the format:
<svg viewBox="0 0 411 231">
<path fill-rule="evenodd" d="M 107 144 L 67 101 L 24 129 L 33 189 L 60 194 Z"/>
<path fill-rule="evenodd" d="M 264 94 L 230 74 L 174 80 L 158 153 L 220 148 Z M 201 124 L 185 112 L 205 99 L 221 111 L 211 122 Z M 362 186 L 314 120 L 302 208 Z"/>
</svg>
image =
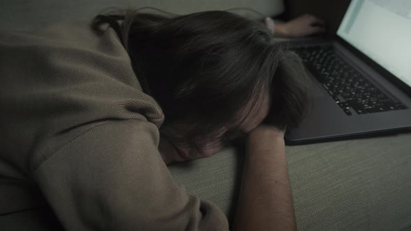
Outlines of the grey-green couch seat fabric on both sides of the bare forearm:
<svg viewBox="0 0 411 231">
<path fill-rule="evenodd" d="M 411 134 L 287 146 L 298 230 L 409 230 Z M 169 166 L 189 193 L 233 217 L 242 153 Z"/>
</svg>

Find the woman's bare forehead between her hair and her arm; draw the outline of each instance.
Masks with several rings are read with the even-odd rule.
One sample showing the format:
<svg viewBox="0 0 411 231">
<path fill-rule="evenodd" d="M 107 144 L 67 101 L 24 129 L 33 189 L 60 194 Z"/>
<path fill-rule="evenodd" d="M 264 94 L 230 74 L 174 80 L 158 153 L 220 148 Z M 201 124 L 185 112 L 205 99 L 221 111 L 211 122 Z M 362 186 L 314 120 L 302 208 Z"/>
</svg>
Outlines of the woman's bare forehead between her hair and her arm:
<svg viewBox="0 0 411 231">
<path fill-rule="evenodd" d="M 249 133 L 263 122 L 270 110 L 270 97 L 268 94 L 261 94 L 256 100 L 250 100 L 240 113 L 239 123 L 234 126 L 242 132 Z"/>
</svg>

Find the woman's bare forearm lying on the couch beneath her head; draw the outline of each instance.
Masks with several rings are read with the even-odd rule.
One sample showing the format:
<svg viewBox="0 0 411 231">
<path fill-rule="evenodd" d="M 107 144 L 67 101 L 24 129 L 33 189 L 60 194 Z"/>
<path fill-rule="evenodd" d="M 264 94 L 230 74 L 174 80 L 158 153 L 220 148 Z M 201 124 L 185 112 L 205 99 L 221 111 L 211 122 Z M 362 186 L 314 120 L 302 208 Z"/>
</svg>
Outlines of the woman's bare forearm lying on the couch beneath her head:
<svg viewBox="0 0 411 231">
<path fill-rule="evenodd" d="M 284 134 L 274 127 L 249 135 L 233 230 L 295 230 Z"/>
</svg>

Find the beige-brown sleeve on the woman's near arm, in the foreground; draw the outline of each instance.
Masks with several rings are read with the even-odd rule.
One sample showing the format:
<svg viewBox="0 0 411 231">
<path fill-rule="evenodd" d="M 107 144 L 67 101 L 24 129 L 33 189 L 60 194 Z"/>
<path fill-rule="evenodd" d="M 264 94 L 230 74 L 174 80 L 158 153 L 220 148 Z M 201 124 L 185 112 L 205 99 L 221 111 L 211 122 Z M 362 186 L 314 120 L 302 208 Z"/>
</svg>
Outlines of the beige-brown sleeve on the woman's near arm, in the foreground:
<svg viewBox="0 0 411 231">
<path fill-rule="evenodd" d="M 34 175 L 67 230 L 228 230 L 223 212 L 173 181 L 141 120 L 95 125 L 49 155 Z"/>
</svg>

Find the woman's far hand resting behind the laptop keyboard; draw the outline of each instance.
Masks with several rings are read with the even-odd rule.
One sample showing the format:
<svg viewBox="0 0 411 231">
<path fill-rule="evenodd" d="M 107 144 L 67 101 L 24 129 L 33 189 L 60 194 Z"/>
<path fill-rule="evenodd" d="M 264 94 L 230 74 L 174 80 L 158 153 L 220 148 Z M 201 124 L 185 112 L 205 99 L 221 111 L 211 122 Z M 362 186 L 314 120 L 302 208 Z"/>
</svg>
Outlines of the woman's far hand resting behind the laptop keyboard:
<svg viewBox="0 0 411 231">
<path fill-rule="evenodd" d="M 275 36 L 287 38 L 315 35 L 324 31 L 324 21 L 309 14 L 301 15 L 289 22 L 278 22 L 274 26 Z"/>
</svg>

